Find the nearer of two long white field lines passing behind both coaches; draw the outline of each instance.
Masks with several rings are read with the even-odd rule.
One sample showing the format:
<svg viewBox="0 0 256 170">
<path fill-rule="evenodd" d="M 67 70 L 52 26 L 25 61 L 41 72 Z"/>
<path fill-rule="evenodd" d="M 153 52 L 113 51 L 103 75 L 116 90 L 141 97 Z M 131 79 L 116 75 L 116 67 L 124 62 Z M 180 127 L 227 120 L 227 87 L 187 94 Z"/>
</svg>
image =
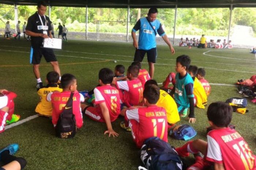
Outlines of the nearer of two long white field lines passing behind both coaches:
<svg viewBox="0 0 256 170">
<path fill-rule="evenodd" d="M 22 51 L 14 51 L 14 50 L 2 50 L 0 49 L 0 51 L 9 51 L 9 52 L 21 52 L 21 53 L 30 53 L 30 52 L 22 52 Z M 67 55 L 56 55 L 56 56 L 62 56 L 62 57 L 72 57 L 72 58 L 86 58 L 86 59 L 93 59 L 93 60 L 106 60 L 104 58 L 93 58 L 93 57 L 79 57 L 79 56 L 67 56 Z M 121 62 L 128 62 L 131 63 L 132 61 L 127 61 L 127 60 L 112 60 L 112 59 L 108 59 L 110 61 L 121 61 Z M 142 62 L 147 64 L 146 62 Z M 174 64 L 159 64 L 159 63 L 155 63 L 155 65 L 167 65 L 167 66 L 176 66 Z M 200 66 L 198 66 L 200 67 Z M 203 67 L 203 68 L 207 68 L 207 69 L 215 69 L 215 70 L 222 70 L 222 71 L 230 71 L 230 72 L 242 72 L 242 73 L 256 73 L 256 72 L 251 72 L 251 71 L 239 71 L 239 70 L 229 70 L 229 69 L 221 69 L 221 68 L 212 68 L 212 67 Z"/>
</svg>

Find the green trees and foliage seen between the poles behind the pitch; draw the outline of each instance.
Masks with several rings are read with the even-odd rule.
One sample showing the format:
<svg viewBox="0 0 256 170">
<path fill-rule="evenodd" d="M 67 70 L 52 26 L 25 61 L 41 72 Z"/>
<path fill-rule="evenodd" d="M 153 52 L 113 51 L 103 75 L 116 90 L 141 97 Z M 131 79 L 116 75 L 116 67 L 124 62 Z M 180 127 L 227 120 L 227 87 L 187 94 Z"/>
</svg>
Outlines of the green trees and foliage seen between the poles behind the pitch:
<svg viewBox="0 0 256 170">
<path fill-rule="evenodd" d="M 130 9 L 130 29 L 138 20 L 138 10 Z M 173 34 L 174 12 L 172 8 L 158 9 L 158 19 L 161 20 L 167 34 Z M 35 6 L 18 6 L 19 20 L 26 21 L 36 11 Z M 140 16 L 146 16 L 148 9 L 141 9 Z M 127 9 L 125 8 L 89 8 L 88 9 L 88 31 L 96 32 L 97 20 L 127 21 Z M 7 15 L 5 15 L 7 13 Z M 5 16 L 4 16 L 5 15 Z M 229 8 L 178 8 L 176 34 L 207 34 L 214 36 L 226 36 L 229 26 Z M 4 17 L 3 17 L 4 16 Z M 55 30 L 58 23 L 65 24 L 69 31 L 85 31 L 85 8 L 74 7 L 52 7 L 51 20 Z M 255 8 L 234 8 L 232 14 L 232 25 L 238 24 L 251 26 L 256 30 Z M 14 6 L 0 4 L 0 28 L 10 20 L 11 27 L 15 28 Z M 126 33 L 126 23 L 101 22 L 100 32 Z"/>
</svg>

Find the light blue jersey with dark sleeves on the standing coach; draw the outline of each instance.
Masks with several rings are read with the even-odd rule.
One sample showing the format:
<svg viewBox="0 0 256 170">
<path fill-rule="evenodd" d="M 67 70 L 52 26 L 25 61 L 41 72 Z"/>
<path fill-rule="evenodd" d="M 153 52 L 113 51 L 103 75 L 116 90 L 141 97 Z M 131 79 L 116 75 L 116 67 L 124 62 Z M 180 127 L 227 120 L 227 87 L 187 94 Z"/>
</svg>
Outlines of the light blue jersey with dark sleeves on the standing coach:
<svg viewBox="0 0 256 170">
<path fill-rule="evenodd" d="M 159 20 L 154 20 L 150 22 L 154 30 L 162 37 L 165 35 L 165 31 L 162 29 L 162 25 Z M 150 50 L 157 47 L 157 42 L 155 41 L 155 31 L 150 26 L 147 18 L 140 18 L 132 31 L 136 32 L 139 30 L 139 49 Z"/>
</svg>

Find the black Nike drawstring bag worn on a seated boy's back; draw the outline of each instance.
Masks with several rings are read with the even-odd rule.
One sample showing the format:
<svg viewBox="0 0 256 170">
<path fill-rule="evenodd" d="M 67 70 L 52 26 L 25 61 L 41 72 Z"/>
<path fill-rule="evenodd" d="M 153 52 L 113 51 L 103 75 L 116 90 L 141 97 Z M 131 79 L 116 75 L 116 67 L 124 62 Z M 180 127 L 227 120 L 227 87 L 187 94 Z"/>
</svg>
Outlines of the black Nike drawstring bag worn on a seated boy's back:
<svg viewBox="0 0 256 170">
<path fill-rule="evenodd" d="M 71 138 L 76 135 L 76 120 L 73 114 L 73 95 L 71 92 L 65 109 L 60 114 L 55 127 L 56 136 L 60 138 Z"/>
</svg>

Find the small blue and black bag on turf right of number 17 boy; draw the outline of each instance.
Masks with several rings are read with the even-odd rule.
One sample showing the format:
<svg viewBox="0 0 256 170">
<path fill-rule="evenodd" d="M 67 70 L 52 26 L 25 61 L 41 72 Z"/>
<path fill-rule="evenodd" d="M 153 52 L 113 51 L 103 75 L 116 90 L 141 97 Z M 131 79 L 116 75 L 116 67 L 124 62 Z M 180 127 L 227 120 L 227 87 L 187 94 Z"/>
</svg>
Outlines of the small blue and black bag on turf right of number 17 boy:
<svg viewBox="0 0 256 170">
<path fill-rule="evenodd" d="M 176 126 L 173 131 L 170 131 L 170 135 L 175 139 L 189 140 L 196 136 L 196 131 L 192 126 L 179 125 Z"/>
</svg>

